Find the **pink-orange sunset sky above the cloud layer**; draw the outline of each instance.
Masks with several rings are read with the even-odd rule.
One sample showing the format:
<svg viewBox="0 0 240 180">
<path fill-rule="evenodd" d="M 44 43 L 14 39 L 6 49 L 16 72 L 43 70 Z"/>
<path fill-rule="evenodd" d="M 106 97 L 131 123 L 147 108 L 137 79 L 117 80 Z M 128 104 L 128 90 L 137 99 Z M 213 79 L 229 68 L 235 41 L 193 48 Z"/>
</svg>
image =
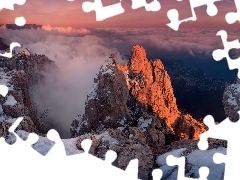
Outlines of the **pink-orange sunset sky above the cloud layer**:
<svg viewBox="0 0 240 180">
<path fill-rule="evenodd" d="M 150 3 L 152 0 L 147 0 Z M 86 13 L 82 9 L 85 0 L 26 0 L 22 6 L 15 5 L 15 10 L 3 9 L 0 11 L 1 24 L 13 24 L 18 16 L 24 16 L 27 24 L 41 24 L 58 27 L 86 27 L 86 28 L 116 28 L 116 27 L 166 27 L 169 23 L 167 11 L 177 9 L 180 19 L 191 17 L 189 1 L 179 2 L 177 0 L 161 0 L 161 10 L 158 12 L 146 12 L 145 8 L 133 10 L 131 0 L 122 0 L 122 7 L 125 12 L 121 15 L 108 18 L 103 21 L 96 21 L 95 12 Z M 104 6 L 118 3 L 119 0 L 102 0 Z M 196 9 L 197 22 L 184 23 L 182 27 L 225 27 L 229 25 L 225 21 L 228 12 L 235 12 L 236 7 L 233 0 L 222 0 L 215 3 L 218 7 L 218 15 L 209 17 L 206 13 L 206 6 Z M 234 27 L 239 23 L 235 23 Z"/>
</svg>

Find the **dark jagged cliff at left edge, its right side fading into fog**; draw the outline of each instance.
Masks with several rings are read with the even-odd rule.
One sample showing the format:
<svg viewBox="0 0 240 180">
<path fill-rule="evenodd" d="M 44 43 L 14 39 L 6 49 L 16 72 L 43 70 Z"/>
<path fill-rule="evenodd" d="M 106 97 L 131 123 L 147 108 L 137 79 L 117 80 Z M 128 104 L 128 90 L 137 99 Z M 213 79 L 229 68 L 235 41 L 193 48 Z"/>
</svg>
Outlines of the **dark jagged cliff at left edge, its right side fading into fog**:
<svg viewBox="0 0 240 180">
<path fill-rule="evenodd" d="M 37 104 L 31 100 L 30 89 L 44 83 L 52 71 L 58 71 L 55 62 L 44 55 L 19 52 L 12 58 L 0 57 L 0 68 L 2 83 L 7 81 L 10 87 L 7 98 L 11 104 L 3 104 L 4 114 L 12 118 L 28 116 L 39 132 L 46 133 L 49 125 L 37 111 Z"/>
</svg>

